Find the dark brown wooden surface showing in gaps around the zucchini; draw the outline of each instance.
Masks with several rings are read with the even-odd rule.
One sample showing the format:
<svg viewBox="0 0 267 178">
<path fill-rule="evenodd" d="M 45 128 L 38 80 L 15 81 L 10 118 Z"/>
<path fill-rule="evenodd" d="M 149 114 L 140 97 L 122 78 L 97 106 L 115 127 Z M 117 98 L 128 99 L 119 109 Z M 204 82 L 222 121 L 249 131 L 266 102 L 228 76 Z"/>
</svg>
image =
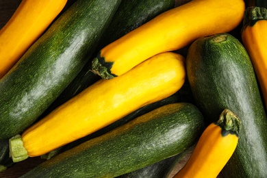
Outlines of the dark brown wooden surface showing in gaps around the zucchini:
<svg viewBox="0 0 267 178">
<path fill-rule="evenodd" d="M 190 0 L 176 0 L 176 6 L 182 5 L 183 3 L 187 3 Z M 16 8 L 18 7 L 19 3 L 21 3 L 21 0 L 0 0 L 0 29 L 5 25 L 5 23 L 8 22 Z M 186 155 L 186 157 L 181 160 L 181 162 L 176 166 L 175 170 L 173 171 L 173 174 L 170 175 L 170 177 L 173 177 L 173 175 L 181 169 L 181 167 L 186 163 L 188 158 L 190 157 L 190 153 Z M 31 170 L 38 164 L 41 164 L 44 162 L 44 160 L 40 159 L 40 157 L 31 157 L 23 162 L 18 162 L 14 164 L 11 168 L 8 168 L 7 170 L 4 170 L 0 173 L 1 178 L 16 178 L 24 173 L 27 173 L 27 171 Z M 219 175 L 219 177 L 222 177 Z"/>
</svg>

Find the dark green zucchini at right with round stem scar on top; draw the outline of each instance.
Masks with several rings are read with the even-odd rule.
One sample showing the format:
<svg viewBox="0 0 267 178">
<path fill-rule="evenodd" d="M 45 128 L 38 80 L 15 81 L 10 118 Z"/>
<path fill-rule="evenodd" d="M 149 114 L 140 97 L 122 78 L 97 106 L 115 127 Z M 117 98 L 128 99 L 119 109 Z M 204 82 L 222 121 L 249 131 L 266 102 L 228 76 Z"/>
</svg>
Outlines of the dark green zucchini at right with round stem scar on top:
<svg viewBox="0 0 267 178">
<path fill-rule="evenodd" d="M 238 147 L 225 177 L 267 177 L 267 118 L 253 66 L 242 44 L 229 34 L 209 36 L 188 50 L 186 70 L 196 105 L 206 123 L 229 109 L 242 120 Z M 222 36 L 220 36 L 222 37 Z"/>
</svg>

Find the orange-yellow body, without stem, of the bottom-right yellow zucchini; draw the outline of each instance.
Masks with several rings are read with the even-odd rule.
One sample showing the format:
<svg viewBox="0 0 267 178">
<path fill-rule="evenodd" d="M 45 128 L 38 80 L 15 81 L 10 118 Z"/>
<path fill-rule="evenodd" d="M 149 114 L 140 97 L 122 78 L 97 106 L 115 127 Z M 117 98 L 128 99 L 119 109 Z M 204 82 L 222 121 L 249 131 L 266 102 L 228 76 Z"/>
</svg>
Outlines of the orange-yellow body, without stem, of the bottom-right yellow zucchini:
<svg viewBox="0 0 267 178">
<path fill-rule="evenodd" d="M 210 124 L 188 162 L 174 178 L 216 178 L 238 145 L 238 136 L 223 137 L 221 131 L 218 125 Z"/>
</svg>

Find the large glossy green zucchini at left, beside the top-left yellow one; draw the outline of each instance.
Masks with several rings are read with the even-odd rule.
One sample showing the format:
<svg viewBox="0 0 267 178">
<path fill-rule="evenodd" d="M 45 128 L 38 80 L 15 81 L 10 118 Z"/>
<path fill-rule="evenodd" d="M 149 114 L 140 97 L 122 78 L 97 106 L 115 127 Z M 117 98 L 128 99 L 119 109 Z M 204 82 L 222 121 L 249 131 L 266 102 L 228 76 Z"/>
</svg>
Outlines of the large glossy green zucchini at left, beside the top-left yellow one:
<svg viewBox="0 0 267 178">
<path fill-rule="evenodd" d="M 119 4 L 120 0 L 76 1 L 0 80 L 0 138 L 29 127 L 71 83 Z"/>
</svg>

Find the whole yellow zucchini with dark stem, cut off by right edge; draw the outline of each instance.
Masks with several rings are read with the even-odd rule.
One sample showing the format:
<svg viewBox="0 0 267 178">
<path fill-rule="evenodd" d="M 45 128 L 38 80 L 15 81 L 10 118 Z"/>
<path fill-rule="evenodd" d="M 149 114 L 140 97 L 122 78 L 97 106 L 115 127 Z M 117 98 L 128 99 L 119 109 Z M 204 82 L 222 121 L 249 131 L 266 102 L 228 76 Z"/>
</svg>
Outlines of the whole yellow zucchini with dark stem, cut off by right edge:
<svg viewBox="0 0 267 178">
<path fill-rule="evenodd" d="M 247 8 L 244 14 L 242 42 L 249 53 L 267 107 L 267 36 L 265 34 L 267 34 L 266 8 Z"/>
</svg>

